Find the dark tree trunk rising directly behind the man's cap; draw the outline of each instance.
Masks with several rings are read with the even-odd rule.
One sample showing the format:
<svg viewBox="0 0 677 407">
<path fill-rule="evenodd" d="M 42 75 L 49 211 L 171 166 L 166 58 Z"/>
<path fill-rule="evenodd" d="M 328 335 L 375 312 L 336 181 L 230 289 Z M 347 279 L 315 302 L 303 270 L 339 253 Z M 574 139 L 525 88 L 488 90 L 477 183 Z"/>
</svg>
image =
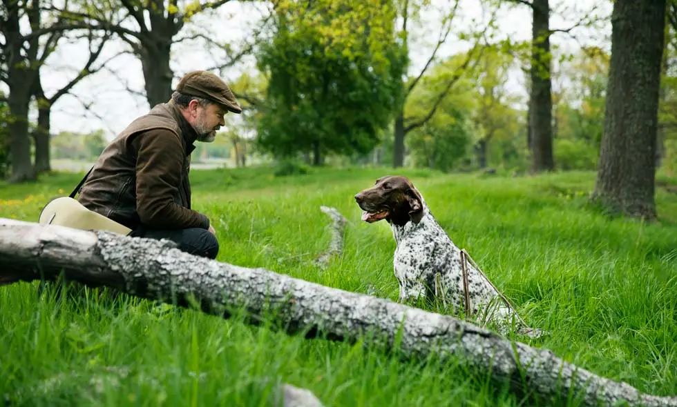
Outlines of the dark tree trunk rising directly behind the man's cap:
<svg viewBox="0 0 677 407">
<path fill-rule="evenodd" d="M 146 40 L 144 43 L 140 57 L 144 71 L 146 100 L 151 108 L 171 98 L 171 82 L 174 74 L 169 66 L 170 56 L 171 37 L 169 42 Z"/>
</svg>

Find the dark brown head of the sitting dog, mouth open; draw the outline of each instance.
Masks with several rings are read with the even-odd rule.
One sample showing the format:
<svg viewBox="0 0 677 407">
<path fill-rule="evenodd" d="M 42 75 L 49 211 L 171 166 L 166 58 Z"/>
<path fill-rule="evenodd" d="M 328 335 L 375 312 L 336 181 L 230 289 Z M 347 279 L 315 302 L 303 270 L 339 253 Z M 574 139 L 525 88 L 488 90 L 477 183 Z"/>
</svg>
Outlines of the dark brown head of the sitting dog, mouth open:
<svg viewBox="0 0 677 407">
<path fill-rule="evenodd" d="M 376 180 L 372 188 L 355 195 L 364 211 L 362 220 L 368 223 L 387 220 L 399 226 L 423 218 L 423 198 L 407 177 L 389 175 Z"/>
</svg>

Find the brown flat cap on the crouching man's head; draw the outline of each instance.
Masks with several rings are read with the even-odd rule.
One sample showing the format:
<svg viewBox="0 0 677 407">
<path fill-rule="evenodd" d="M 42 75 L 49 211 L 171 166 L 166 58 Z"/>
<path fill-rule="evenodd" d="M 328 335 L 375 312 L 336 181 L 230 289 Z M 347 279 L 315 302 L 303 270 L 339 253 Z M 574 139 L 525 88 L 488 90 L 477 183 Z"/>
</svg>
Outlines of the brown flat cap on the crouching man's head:
<svg viewBox="0 0 677 407">
<path fill-rule="evenodd" d="M 211 100 L 233 113 L 242 113 L 240 103 L 223 79 L 206 70 L 188 72 L 179 81 L 176 91 Z"/>
</svg>

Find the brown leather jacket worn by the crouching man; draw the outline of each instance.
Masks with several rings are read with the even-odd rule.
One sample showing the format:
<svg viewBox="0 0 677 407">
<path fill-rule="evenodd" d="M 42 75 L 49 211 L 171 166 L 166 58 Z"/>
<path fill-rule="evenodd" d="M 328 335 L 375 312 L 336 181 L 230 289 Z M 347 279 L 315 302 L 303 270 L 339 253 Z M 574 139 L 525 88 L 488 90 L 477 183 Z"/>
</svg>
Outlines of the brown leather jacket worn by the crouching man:
<svg viewBox="0 0 677 407">
<path fill-rule="evenodd" d="M 106 146 L 77 200 L 132 230 L 208 229 L 207 216 L 191 210 L 197 136 L 172 101 L 158 104 Z"/>
</svg>

